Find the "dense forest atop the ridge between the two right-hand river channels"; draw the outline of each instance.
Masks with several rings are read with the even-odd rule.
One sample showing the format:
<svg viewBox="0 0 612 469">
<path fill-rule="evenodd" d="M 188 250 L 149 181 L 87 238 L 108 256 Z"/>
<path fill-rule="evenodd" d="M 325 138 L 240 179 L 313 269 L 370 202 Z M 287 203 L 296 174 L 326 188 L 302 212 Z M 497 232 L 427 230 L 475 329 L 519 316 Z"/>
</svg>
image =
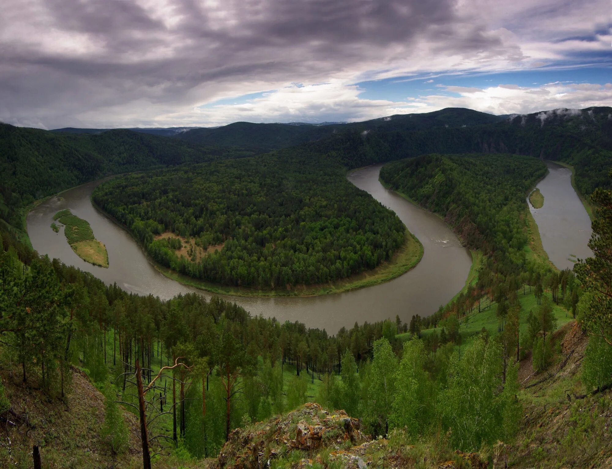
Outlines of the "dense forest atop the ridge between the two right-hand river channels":
<svg viewBox="0 0 612 469">
<path fill-rule="evenodd" d="M 426 155 L 387 163 L 380 177 L 444 216 L 469 248 L 493 256 L 496 271 L 507 275 L 526 264 L 525 198 L 547 171 L 542 161 L 518 155 Z"/>
</svg>

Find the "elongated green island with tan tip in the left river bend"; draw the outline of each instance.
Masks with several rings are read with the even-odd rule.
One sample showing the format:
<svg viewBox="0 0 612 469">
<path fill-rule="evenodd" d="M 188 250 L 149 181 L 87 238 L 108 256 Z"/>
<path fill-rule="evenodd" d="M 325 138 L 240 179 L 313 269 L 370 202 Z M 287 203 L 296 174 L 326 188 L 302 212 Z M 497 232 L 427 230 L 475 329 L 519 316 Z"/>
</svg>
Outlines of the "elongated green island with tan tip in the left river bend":
<svg viewBox="0 0 612 469">
<path fill-rule="evenodd" d="M 90 264 L 108 267 L 106 247 L 95 239 L 94 232 L 86 220 L 72 215 L 70 210 L 60 210 L 53 216 L 53 220 L 64 224 L 66 240 L 77 256 Z M 55 223 L 51 223 L 51 228 L 54 225 Z M 53 228 L 53 231 L 56 231 L 56 228 Z"/>
</svg>

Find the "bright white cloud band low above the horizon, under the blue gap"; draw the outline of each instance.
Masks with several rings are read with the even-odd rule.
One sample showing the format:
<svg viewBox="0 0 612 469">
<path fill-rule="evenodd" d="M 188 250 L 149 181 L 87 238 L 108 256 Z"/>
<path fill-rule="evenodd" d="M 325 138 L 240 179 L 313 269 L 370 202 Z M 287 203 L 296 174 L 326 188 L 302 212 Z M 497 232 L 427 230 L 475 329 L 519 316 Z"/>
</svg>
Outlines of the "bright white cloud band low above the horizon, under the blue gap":
<svg viewBox="0 0 612 469">
<path fill-rule="evenodd" d="M 547 109 L 581 109 L 612 102 L 612 84 L 551 83 L 539 87 L 504 84 L 483 88 L 444 86 L 455 95 L 431 94 L 401 102 L 360 98 L 363 90 L 341 81 L 291 84 L 245 103 L 193 108 L 168 113 L 143 125 L 225 125 L 250 122 L 359 121 L 393 114 L 428 113 L 449 107 L 491 114 L 526 114 Z"/>
</svg>

